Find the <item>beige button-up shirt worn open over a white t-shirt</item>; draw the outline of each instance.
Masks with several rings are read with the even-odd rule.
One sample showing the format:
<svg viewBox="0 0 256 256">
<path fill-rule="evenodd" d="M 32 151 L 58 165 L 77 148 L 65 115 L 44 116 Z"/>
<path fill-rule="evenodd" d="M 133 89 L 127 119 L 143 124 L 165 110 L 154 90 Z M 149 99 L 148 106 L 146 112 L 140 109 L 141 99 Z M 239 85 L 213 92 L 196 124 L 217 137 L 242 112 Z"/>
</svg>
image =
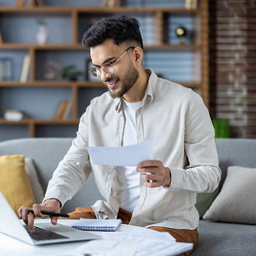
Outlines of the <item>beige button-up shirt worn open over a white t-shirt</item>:
<svg viewBox="0 0 256 256">
<path fill-rule="evenodd" d="M 136 112 L 137 141 L 152 141 L 155 159 L 169 167 L 172 181 L 169 188 L 149 188 L 140 177 L 140 198 L 130 224 L 195 229 L 199 219 L 194 206 L 197 193 L 215 190 L 221 176 L 212 122 L 198 94 L 147 71 L 151 76 Z M 108 92 L 94 98 L 44 199 L 54 197 L 65 204 L 92 171 L 105 198 L 93 205 L 95 214 L 116 218 L 119 198 L 113 182 L 117 167 L 94 165 L 87 146 L 122 146 L 125 122 L 121 98 L 114 99 Z"/>
</svg>

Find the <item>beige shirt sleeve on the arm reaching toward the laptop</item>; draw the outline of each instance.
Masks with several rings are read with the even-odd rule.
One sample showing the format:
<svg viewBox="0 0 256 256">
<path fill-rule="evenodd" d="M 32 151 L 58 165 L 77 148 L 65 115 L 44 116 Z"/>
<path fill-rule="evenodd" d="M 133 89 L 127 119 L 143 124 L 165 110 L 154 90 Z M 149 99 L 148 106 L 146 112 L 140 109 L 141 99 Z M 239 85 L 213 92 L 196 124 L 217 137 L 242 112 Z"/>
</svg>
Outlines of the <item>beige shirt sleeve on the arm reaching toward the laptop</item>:
<svg viewBox="0 0 256 256">
<path fill-rule="evenodd" d="M 76 138 L 73 139 L 69 151 L 53 172 L 44 200 L 56 198 L 63 206 L 83 187 L 90 175 L 91 164 L 87 153 L 89 112 L 90 107 L 87 107 L 87 111 L 80 119 Z"/>
</svg>

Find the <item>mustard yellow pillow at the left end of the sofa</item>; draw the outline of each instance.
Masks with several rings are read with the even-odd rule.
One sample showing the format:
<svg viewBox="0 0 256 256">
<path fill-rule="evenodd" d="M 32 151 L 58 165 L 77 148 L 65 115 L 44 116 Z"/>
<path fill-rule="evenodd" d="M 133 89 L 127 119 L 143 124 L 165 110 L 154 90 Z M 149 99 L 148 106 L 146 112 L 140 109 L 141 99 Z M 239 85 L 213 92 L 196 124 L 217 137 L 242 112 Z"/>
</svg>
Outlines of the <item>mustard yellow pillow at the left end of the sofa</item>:
<svg viewBox="0 0 256 256">
<path fill-rule="evenodd" d="M 23 155 L 0 156 L 0 190 L 16 214 L 20 206 L 34 204 Z"/>
</svg>

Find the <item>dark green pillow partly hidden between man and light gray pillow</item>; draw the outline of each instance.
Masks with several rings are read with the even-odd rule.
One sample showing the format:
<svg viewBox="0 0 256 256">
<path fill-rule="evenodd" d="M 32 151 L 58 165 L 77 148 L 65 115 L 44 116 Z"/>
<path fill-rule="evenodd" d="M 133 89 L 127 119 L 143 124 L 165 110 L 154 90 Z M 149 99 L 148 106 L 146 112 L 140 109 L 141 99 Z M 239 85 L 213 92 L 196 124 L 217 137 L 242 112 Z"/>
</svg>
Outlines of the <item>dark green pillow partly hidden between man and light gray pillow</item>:
<svg viewBox="0 0 256 256">
<path fill-rule="evenodd" d="M 215 197 L 219 194 L 219 187 L 216 188 L 212 193 L 198 193 L 197 203 L 195 204 L 197 211 L 199 212 L 200 219 L 202 219 L 204 213 L 211 206 Z"/>
</svg>

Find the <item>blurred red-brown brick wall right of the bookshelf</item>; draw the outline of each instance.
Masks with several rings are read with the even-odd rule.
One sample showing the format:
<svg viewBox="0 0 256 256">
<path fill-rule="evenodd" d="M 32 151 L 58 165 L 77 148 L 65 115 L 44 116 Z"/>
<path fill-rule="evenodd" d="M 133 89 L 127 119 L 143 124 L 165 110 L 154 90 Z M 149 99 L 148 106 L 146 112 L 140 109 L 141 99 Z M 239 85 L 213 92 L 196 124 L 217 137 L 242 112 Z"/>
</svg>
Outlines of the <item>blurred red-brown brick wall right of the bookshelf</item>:
<svg viewBox="0 0 256 256">
<path fill-rule="evenodd" d="M 256 138 L 256 0 L 209 0 L 209 23 L 212 117 Z"/>
</svg>

